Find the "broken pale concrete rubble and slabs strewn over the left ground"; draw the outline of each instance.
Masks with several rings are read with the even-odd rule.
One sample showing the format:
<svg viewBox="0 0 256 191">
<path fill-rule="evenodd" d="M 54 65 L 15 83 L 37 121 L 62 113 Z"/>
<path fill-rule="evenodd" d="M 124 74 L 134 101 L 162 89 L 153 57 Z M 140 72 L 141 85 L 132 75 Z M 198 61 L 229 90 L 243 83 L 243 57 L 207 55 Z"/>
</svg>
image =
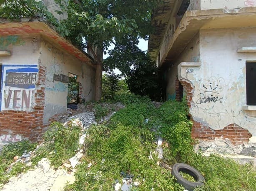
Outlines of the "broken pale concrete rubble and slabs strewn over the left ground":
<svg viewBox="0 0 256 191">
<path fill-rule="evenodd" d="M 107 116 L 103 117 L 101 122 L 105 120 L 109 120 L 111 116 L 115 113 L 115 111 L 120 108 L 124 108 L 124 105 L 121 103 L 100 103 L 104 108 L 108 108 L 111 113 Z M 57 118 L 58 122 L 62 122 L 65 126 L 75 125 L 81 128 L 82 136 L 79 139 L 80 145 L 85 142 L 85 138 L 88 136 L 86 134 L 86 130 L 90 127 L 90 125 L 97 125 L 95 121 L 95 116 L 93 113 L 93 103 L 88 103 L 86 106 L 84 104 L 78 104 L 76 110 L 72 110 L 70 108 L 67 109 L 67 112 L 59 115 Z M 11 164 L 9 171 L 12 166 L 17 162 L 22 162 L 27 164 L 28 166 L 32 165 L 30 160 L 31 157 L 35 155 L 35 151 L 37 151 L 40 147 L 44 146 L 44 142 L 39 144 L 34 151 L 28 152 L 25 150 L 22 156 L 13 156 L 14 162 Z M 3 147 L 3 144 L 0 145 L 0 149 Z M 50 162 L 47 158 L 43 158 L 38 162 L 38 165 L 35 166 L 34 169 L 29 170 L 26 173 L 22 173 L 19 176 L 11 177 L 9 182 L 3 186 L 3 190 L 8 191 L 60 191 L 63 190 L 65 184 L 68 182 L 72 184 L 75 181 L 74 172 L 76 171 L 75 166 L 79 163 L 79 160 L 83 157 L 83 150 L 80 150 L 74 157 L 70 158 L 70 164 L 68 162 L 63 163 L 61 167 L 57 170 L 54 170 L 50 167 Z M 102 160 L 101 168 L 104 167 L 104 160 Z M 93 163 L 88 164 L 88 168 L 90 168 Z M 63 167 L 65 167 L 63 169 Z M 72 172 L 70 171 L 70 168 Z M 67 169 L 70 174 L 68 174 Z M 102 171 L 98 171 L 94 179 L 100 179 L 102 176 Z M 130 179 L 130 178 L 129 178 Z M 127 184 L 131 184 L 131 181 L 125 181 Z M 118 185 L 118 189 L 120 190 L 121 184 Z"/>
</svg>

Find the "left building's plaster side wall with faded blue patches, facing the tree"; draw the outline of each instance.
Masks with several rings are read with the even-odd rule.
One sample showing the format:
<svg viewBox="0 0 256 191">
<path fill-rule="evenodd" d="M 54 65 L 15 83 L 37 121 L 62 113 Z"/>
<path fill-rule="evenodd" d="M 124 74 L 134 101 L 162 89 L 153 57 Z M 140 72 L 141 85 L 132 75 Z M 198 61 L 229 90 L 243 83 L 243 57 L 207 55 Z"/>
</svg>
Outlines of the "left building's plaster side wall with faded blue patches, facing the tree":
<svg viewBox="0 0 256 191">
<path fill-rule="evenodd" d="M 68 83 L 54 81 L 53 75 L 73 73 L 81 83 L 81 97 L 86 101 L 94 98 L 95 70 L 64 51 L 42 40 L 40 65 L 46 68 L 44 122 L 57 113 L 67 110 Z"/>
</svg>

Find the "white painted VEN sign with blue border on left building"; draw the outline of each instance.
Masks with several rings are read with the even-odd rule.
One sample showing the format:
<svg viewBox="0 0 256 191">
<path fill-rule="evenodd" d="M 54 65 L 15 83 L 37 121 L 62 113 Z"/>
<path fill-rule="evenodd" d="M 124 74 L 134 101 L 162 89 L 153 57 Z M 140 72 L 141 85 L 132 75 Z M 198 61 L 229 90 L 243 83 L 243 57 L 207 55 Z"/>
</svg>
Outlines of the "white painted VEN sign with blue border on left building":
<svg viewBox="0 0 256 191">
<path fill-rule="evenodd" d="M 3 65 L 1 110 L 30 110 L 37 65 Z"/>
</svg>

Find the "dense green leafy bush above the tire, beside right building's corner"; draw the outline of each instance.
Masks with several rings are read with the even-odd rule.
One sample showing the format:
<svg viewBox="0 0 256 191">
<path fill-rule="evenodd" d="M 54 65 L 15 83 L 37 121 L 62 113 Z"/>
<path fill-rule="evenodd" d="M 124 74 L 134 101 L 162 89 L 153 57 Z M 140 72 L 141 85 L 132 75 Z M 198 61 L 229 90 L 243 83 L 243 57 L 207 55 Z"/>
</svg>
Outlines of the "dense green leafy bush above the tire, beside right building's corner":
<svg viewBox="0 0 256 191">
<path fill-rule="evenodd" d="M 170 143 L 172 156 L 178 162 L 185 162 L 188 153 L 193 152 L 191 127 L 193 123 L 188 120 L 186 101 L 169 100 L 159 109 L 161 122 L 161 135 Z"/>
</svg>

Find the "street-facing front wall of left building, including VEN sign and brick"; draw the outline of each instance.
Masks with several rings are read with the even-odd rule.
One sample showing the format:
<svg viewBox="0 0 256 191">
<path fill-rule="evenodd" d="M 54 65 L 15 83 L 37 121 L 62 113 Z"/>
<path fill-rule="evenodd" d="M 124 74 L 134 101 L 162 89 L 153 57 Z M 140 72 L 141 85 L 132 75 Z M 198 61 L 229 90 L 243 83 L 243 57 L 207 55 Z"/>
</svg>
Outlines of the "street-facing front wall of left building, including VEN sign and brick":
<svg viewBox="0 0 256 191">
<path fill-rule="evenodd" d="M 0 37 L 2 64 L 0 145 L 23 138 L 36 140 L 43 131 L 44 70 L 38 64 L 40 37 Z"/>
</svg>

